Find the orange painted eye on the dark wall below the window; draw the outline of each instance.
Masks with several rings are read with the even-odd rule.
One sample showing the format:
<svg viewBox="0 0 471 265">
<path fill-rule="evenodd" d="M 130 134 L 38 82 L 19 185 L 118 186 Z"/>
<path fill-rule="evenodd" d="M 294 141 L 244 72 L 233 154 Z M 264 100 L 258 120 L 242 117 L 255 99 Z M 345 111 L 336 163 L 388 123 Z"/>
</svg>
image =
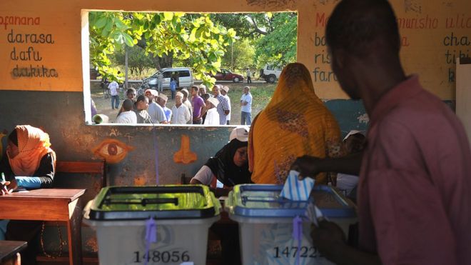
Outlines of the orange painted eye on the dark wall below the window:
<svg viewBox="0 0 471 265">
<path fill-rule="evenodd" d="M 133 146 L 128 146 L 122 141 L 118 141 L 116 139 L 104 139 L 91 151 L 93 151 L 93 154 L 96 156 L 100 156 L 105 159 L 106 163 L 116 164 L 128 155 L 128 151 L 133 149 Z"/>
</svg>

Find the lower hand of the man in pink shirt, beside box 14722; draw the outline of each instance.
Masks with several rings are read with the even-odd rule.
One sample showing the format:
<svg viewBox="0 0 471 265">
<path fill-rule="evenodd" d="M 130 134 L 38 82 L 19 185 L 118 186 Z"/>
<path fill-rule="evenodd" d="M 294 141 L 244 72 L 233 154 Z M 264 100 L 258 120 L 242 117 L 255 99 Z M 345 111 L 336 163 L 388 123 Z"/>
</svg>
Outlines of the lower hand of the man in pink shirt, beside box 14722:
<svg viewBox="0 0 471 265">
<path fill-rule="evenodd" d="M 320 221 L 319 227 L 311 224 L 310 236 L 314 246 L 321 254 L 332 260 L 338 256 L 345 246 L 345 234 L 337 224 L 330 221 Z"/>
</svg>

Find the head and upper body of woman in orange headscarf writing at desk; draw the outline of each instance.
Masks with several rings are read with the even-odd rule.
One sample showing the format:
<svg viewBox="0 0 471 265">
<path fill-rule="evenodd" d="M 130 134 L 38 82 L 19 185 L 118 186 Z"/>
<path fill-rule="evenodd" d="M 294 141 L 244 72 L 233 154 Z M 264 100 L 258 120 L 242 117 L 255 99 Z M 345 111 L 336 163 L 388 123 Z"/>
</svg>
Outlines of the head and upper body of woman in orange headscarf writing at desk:
<svg viewBox="0 0 471 265">
<path fill-rule="evenodd" d="M 8 137 L 6 156 L 0 162 L 1 194 L 17 187 L 39 189 L 52 186 L 56 153 L 50 148 L 49 134 L 29 125 L 16 126 Z"/>
</svg>

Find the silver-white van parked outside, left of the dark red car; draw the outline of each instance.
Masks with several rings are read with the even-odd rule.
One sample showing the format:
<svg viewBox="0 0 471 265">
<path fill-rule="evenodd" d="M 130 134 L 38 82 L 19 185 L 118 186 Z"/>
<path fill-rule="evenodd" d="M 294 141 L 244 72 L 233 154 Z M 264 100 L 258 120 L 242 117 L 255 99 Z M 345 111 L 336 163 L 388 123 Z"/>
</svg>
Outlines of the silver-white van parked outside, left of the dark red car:
<svg viewBox="0 0 471 265">
<path fill-rule="evenodd" d="M 177 81 L 177 87 L 190 87 L 193 86 L 193 74 L 191 69 L 188 67 L 175 67 L 175 68 L 163 68 L 156 71 L 155 74 L 144 79 L 148 82 L 149 86 L 157 87 L 158 75 L 162 76 L 162 88 L 170 88 L 171 78 L 175 78 Z"/>
</svg>

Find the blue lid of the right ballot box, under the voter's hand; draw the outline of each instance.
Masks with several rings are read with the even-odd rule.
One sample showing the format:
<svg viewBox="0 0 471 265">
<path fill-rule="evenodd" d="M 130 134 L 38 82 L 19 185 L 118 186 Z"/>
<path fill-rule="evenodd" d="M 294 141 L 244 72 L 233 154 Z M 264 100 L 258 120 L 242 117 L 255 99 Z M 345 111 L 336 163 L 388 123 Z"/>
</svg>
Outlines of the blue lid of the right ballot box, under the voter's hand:
<svg viewBox="0 0 471 265">
<path fill-rule="evenodd" d="M 331 186 L 314 186 L 306 201 L 290 201 L 280 196 L 283 185 L 240 184 L 234 186 L 226 200 L 231 214 L 246 217 L 292 218 L 305 216 L 313 203 L 330 218 L 354 217 L 355 209 Z"/>
</svg>

